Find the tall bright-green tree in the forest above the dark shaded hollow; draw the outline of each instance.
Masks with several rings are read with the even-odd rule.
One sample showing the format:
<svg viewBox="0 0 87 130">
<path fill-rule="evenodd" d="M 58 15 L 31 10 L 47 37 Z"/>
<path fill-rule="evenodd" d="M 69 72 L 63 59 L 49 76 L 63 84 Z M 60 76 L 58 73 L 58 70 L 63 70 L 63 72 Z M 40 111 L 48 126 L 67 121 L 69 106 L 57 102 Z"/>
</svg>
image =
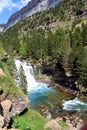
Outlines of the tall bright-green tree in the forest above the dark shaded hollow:
<svg viewBox="0 0 87 130">
<path fill-rule="evenodd" d="M 52 45 L 53 57 L 56 60 L 55 63 L 61 62 L 61 65 L 65 66 L 67 47 L 68 44 L 67 44 L 65 31 L 63 28 L 59 27 L 54 34 L 53 45 Z"/>
</svg>

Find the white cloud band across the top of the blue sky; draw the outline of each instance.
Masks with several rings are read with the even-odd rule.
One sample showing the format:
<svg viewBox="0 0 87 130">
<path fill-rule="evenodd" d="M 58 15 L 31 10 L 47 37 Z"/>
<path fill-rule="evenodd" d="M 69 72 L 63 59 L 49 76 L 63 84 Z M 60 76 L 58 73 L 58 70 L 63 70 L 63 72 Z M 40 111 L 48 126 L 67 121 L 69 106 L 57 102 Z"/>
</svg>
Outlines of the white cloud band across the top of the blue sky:
<svg viewBox="0 0 87 130">
<path fill-rule="evenodd" d="M 22 8 L 27 5 L 30 0 L 19 0 L 17 3 L 12 2 L 12 0 L 0 0 L 0 14 L 5 8 L 11 10 L 12 8 Z"/>
</svg>

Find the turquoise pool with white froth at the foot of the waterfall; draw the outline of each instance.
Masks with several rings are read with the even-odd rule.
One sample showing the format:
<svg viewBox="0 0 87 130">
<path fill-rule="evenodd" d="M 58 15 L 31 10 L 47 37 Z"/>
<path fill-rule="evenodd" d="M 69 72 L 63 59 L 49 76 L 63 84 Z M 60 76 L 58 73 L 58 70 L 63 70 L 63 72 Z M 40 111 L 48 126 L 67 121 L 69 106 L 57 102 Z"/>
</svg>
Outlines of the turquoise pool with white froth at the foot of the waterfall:
<svg viewBox="0 0 87 130">
<path fill-rule="evenodd" d="M 28 92 L 28 99 L 30 100 L 31 107 L 48 101 L 46 94 L 53 92 L 54 89 L 52 87 L 48 87 L 48 84 L 45 83 L 38 83 L 37 86 L 32 87 Z"/>
</svg>

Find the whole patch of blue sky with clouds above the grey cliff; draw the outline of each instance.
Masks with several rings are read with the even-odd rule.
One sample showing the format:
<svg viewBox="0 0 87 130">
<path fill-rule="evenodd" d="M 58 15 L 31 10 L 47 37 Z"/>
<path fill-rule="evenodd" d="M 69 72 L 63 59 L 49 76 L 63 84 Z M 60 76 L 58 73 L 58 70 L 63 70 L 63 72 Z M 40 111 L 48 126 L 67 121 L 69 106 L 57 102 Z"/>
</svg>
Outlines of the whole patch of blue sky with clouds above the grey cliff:
<svg viewBox="0 0 87 130">
<path fill-rule="evenodd" d="M 0 24 L 7 23 L 9 17 L 31 0 L 0 0 Z"/>
</svg>

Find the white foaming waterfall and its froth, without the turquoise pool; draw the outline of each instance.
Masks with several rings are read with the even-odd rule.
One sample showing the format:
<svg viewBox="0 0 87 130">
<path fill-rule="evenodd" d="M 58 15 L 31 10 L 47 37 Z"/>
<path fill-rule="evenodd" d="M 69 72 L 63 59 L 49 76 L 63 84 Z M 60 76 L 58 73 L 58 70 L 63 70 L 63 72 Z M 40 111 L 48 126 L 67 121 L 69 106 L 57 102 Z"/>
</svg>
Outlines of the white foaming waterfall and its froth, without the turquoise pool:
<svg viewBox="0 0 87 130">
<path fill-rule="evenodd" d="M 43 93 L 43 92 L 50 90 L 50 88 L 48 88 L 48 84 L 36 82 L 36 80 L 34 78 L 33 68 L 30 63 L 27 63 L 26 61 L 20 61 L 18 59 L 15 59 L 15 64 L 16 64 L 17 70 L 19 70 L 21 65 L 24 69 L 27 84 L 28 84 L 27 91 L 29 91 L 29 92 L 30 91 L 32 91 L 32 92 L 39 91 L 39 92 Z"/>
</svg>

